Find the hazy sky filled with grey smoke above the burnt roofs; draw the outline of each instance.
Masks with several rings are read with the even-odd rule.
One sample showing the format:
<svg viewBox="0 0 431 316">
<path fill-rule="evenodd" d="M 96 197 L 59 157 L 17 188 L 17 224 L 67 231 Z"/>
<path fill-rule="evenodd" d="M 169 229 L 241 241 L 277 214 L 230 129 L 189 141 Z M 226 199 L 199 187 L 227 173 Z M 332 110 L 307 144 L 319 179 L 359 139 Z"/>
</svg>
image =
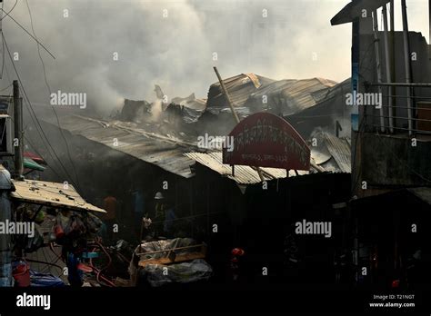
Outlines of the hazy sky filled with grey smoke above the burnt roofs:
<svg viewBox="0 0 431 316">
<path fill-rule="evenodd" d="M 351 25 L 331 26 L 330 19 L 348 2 L 5 0 L 5 12 L 15 5 L 10 15 L 55 55 L 39 47 L 47 84 L 35 40 L 7 16 L 2 28 L 33 103 L 48 104 L 57 91 L 85 93 L 88 106 L 109 114 L 124 98 L 153 101 L 155 84 L 168 99 L 205 98 L 215 65 L 225 78 L 255 73 L 341 82 L 350 75 Z M 400 6 L 396 0 L 396 30 Z M 410 30 L 429 43 L 427 1 L 407 0 L 407 10 Z M 0 89 L 16 78 L 4 55 Z"/>
</svg>

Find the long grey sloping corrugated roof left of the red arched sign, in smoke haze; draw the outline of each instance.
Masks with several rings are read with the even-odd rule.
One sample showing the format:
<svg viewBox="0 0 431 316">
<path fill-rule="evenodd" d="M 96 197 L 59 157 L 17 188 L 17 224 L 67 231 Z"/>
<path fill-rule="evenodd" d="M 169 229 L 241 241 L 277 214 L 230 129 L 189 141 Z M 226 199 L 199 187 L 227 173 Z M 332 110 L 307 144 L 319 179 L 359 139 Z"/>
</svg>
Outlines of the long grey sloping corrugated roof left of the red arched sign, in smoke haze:
<svg viewBox="0 0 431 316">
<path fill-rule="evenodd" d="M 57 127 L 55 123 L 54 125 Z M 142 129 L 131 127 L 130 123 L 119 121 L 107 123 L 77 115 L 61 118 L 61 126 L 72 134 L 103 143 L 111 149 L 129 154 L 146 163 L 153 163 L 167 172 L 185 178 L 193 176 L 189 166 L 194 161 L 183 154 L 195 149 L 193 143 L 147 133 Z M 117 145 L 114 142 L 115 138 Z"/>
</svg>

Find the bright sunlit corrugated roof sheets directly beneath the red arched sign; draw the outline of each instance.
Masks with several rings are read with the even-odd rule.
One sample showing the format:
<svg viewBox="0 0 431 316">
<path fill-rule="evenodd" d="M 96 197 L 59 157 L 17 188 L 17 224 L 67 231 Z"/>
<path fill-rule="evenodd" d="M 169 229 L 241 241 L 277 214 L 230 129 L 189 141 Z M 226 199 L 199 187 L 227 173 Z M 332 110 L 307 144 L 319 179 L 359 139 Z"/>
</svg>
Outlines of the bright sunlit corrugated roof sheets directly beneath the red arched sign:
<svg viewBox="0 0 431 316">
<path fill-rule="evenodd" d="M 239 184 L 252 184 L 252 183 L 260 183 L 261 180 L 256 170 L 251 167 L 245 165 L 236 165 L 235 166 L 235 176 L 232 175 L 232 167 L 229 164 L 223 163 L 223 157 L 221 152 L 214 153 L 185 153 L 185 156 L 195 160 L 197 163 L 205 165 L 216 173 L 221 174 L 222 176 L 226 176 L 229 179 L 234 180 Z M 264 177 L 267 180 L 278 179 L 278 178 L 286 178 L 286 170 L 285 169 L 276 169 L 276 168 L 261 168 L 264 173 Z M 298 171 L 300 175 L 307 174 L 304 171 Z M 270 175 L 271 177 L 267 176 Z M 289 176 L 295 176 L 296 173 L 294 171 L 289 172 Z"/>
</svg>

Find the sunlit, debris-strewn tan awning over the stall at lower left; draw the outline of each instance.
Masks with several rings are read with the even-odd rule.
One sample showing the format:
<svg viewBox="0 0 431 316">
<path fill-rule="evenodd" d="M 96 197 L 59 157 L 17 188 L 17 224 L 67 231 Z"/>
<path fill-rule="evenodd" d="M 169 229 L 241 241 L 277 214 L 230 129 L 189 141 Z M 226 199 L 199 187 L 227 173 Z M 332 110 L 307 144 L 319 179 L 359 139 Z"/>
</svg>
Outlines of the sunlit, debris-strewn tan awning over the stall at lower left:
<svg viewBox="0 0 431 316">
<path fill-rule="evenodd" d="M 35 180 L 12 180 L 15 192 L 11 193 L 13 200 L 37 205 L 62 208 L 71 211 L 105 212 L 103 209 L 85 200 L 75 191 L 71 184 L 48 183 Z"/>
</svg>

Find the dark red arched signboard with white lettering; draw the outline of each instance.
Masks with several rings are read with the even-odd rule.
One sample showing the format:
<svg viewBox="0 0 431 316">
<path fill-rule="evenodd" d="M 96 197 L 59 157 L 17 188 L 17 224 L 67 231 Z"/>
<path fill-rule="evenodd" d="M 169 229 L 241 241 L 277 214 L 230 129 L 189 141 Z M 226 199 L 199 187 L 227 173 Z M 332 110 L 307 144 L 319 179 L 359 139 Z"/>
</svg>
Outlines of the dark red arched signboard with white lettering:
<svg viewBox="0 0 431 316">
<path fill-rule="evenodd" d="M 268 113 L 252 114 L 229 133 L 233 146 L 224 146 L 223 163 L 287 170 L 310 169 L 306 141 L 285 119 Z"/>
</svg>

